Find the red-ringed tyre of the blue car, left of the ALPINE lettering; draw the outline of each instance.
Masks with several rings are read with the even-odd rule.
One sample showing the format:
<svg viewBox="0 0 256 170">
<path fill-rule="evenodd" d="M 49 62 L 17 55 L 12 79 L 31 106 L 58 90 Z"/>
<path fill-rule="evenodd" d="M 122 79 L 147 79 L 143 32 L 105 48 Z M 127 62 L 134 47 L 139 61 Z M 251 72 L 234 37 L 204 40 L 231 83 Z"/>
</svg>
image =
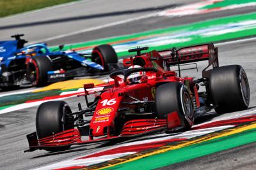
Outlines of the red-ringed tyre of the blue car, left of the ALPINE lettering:
<svg viewBox="0 0 256 170">
<path fill-rule="evenodd" d="M 52 71 L 52 62 L 46 56 L 35 56 L 28 64 L 28 79 L 32 85 L 42 87 L 47 85 L 48 71 Z"/>
</svg>

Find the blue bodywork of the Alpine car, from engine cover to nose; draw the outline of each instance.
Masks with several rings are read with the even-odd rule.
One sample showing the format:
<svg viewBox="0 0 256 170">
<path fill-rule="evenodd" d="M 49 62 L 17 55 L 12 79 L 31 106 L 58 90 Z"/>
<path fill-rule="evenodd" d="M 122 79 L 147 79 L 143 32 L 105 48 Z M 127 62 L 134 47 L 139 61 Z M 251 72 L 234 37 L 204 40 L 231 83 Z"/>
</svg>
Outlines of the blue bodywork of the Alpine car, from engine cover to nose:
<svg viewBox="0 0 256 170">
<path fill-rule="evenodd" d="M 76 60 L 81 67 L 86 67 L 86 68 L 90 67 L 99 71 L 104 70 L 104 68 L 100 64 L 92 62 L 92 59 L 91 59 L 92 56 L 85 57 L 85 55 L 81 53 L 77 53 L 73 50 L 62 51 L 58 49 L 58 51 L 51 52 L 49 48 L 47 48 L 47 45 L 45 43 L 36 43 L 33 45 L 24 46 L 24 44 L 27 43 L 27 41 L 24 39 L 20 39 L 20 36 L 23 36 L 23 35 L 12 36 L 16 40 L 0 41 L 0 87 L 15 85 L 15 83 L 13 82 L 16 80 L 21 81 L 22 78 L 19 78 L 19 77 L 17 78 L 16 75 L 12 76 L 12 74 L 16 74 L 16 72 L 19 71 L 19 70 L 13 71 L 13 67 L 16 67 L 17 64 L 19 66 L 24 64 L 22 68 L 26 69 L 25 65 L 26 65 L 27 59 L 31 59 L 35 56 L 48 57 L 49 60 L 51 60 L 54 57 L 65 57 L 66 59 L 68 57 L 69 59 Z M 22 60 L 22 62 L 20 63 L 18 62 L 18 60 L 19 61 Z M 66 62 L 65 64 L 68 65 L 68 62 Z M 54 74 L 54 71 L 56 70 L 48 71 L 47 74 Z M 20 74 L 24 75 L 26 74 L 26 72 L 23 71 Z M 12 79 L 12 83 L 8 83 L 10 79 Z M 18 83 L 18 85 L 21 85 L 21 84 L 22 83 Z"/>
</svg>

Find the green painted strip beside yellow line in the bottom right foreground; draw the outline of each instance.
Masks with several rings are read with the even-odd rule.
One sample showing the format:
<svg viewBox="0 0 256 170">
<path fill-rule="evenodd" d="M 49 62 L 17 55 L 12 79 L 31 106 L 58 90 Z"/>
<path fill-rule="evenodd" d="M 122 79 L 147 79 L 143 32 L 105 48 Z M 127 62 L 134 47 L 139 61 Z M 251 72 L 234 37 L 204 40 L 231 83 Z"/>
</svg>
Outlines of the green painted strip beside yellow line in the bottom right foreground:
<svg viewBox="0 0 256 170">
<path fill-rule="evenodd" d="M 143 159 L 134 160 L 106 169 L 155 169 L 158 167 L 169 166 L 185 160 L 195 159 L 211 153 L 228 150 L 237 146 L 253 143 L 256 141 L 256 129 L 250 129 L 241 133 L 225 136 L 222 138 L 212 139 L 203 143 L 186 146 L 177 150 L 152 155 Z M 154 162 L 154 163 L 153 163 Z"/>
</svg>

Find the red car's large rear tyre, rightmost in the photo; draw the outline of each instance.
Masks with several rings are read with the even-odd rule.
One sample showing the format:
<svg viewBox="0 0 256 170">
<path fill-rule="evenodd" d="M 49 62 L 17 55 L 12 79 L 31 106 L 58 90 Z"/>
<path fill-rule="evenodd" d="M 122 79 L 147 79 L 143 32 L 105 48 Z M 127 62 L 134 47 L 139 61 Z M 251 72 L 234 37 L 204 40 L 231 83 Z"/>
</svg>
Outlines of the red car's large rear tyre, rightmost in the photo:
<svg viewBox="0 0 256 170">
<path fill-rule="evenodd" d="M 216 113 L 246 110 L 250 103 L 250 87 L 243 67 L 239 65 L 214 68 L 210 90 Z"/>
</svg>

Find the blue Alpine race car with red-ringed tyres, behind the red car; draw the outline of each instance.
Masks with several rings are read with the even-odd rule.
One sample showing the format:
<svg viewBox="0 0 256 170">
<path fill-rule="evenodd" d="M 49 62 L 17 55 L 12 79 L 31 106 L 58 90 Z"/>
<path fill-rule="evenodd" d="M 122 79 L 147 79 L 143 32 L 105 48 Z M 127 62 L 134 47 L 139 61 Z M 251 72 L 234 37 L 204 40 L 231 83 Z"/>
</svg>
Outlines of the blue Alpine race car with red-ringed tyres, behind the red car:
<svg viewBox="0 0 256 170">
<path fill-rule="evenodd" d="M 95 74 L 109 73 L 116 69 L 117 56 L 110 45 L 99 45 L 92 53 L 77 53 L 74 50 L 50 51 L 45 43 L 24 46 L 26 41 L 12 36 L 15 40 L 0 41 L 0 88 L 32 84 L 41 87 L 56 82 Z"/>
</svg>

